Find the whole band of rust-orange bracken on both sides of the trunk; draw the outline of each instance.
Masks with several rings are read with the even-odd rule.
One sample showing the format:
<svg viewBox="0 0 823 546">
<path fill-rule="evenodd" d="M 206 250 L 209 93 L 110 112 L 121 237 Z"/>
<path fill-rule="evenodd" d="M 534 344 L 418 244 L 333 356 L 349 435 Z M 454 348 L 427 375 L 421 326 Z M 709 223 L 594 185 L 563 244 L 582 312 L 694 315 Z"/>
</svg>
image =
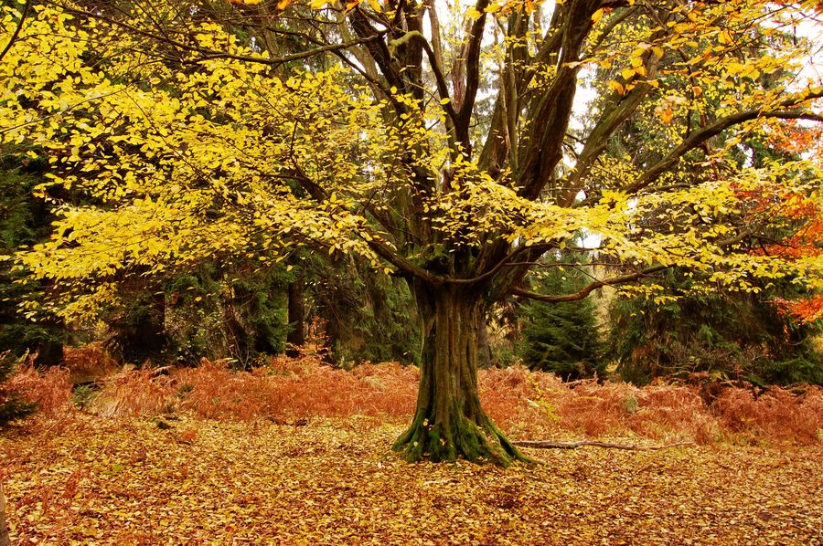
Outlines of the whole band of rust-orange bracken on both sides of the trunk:
<svg viewBox="0 0 823 546">
<path fill-rule="evenodd" d="M 105 359 L 98 365 L 110 368 Z M 77 366 L 78 363 L 74 362 Z M 69 415 L 69 369 L 40 373 L 26 366 L 8 386 L 47 417 Z M 366 363 L 345 371 L 320 352 L 278 356 L 251 372 L 203 360 L 190 368 L 108 371 L 99 390 L 84 395 L 84 411 L 101 416 L 191 412 L 208 419 L 269 419 L 300 424 L 313 417 L 368 415 L 401 423 L 413 412 L 419 373 L 396 362 Z M 656 441 L 823 442 L 823 389 L 773 387 L 764 392 L 722 386 L 707 400 L 700 384 L 579 381 L 523 367 L 479 373 L 486 412 L 517 438 L 640 436 Z"/>
</svg>

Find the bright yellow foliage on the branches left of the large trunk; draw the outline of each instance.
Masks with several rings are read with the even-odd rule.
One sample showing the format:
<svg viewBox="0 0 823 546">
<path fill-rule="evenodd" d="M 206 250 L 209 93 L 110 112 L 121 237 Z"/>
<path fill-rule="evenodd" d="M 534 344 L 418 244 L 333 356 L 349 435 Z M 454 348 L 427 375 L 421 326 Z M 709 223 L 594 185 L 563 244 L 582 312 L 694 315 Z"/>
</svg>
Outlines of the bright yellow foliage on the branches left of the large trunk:
<svg viewBox="0 0 823 546">
<path fill-rule="evenodd" d="M 219 26 L 195 34 L 204 47 L 253 54 Z M 369 255 L 365 220 L 349 208 L 395 175 L 360 157 L 401 153 L 404 135 L 381 133 L 380 105 L 341 89 L 339 70 L 282 81 L 211 59 L 174 74 L 175 89 L 139 73 L 115 85 L 81 60 L 92 36 L 77 37 L 68 17 L 40 17 L 0 68 L 12 76 L 0 89 L 0 143 L 37 143 L 54 165 L 44 189 L 106 204 L 60 207 L 55 236 L 20 257 L 34 276 L 93 284 L 125 268 L 160 273 L 218 251 L 276 254 L 294 241 Z M 50 47 L 60 48 L 59 68 L 42 55 Z M 339 198 L 298 199 L 296 176 Z"/>
</svg>

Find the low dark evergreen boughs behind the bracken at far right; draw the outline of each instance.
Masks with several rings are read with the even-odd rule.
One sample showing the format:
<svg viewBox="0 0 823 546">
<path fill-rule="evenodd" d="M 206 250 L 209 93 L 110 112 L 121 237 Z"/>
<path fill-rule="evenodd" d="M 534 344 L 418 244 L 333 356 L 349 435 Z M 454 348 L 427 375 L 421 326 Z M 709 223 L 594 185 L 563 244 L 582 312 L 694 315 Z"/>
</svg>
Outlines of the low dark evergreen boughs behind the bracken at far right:
<svg viewBox="0 0 823 546">
<path fill-rule="evenodd" d="M 657 282 L 660 282 L 659 280 Z M 705 292 L 682 271 L 668 272 L 665 298 L 615 299 L 610 352 L 626 381 L 711 373 L 753 383 L 823 383 L 823 360 L 799 324 L 774 304 L 790 286 L 759 293 Z"/>
</svg>

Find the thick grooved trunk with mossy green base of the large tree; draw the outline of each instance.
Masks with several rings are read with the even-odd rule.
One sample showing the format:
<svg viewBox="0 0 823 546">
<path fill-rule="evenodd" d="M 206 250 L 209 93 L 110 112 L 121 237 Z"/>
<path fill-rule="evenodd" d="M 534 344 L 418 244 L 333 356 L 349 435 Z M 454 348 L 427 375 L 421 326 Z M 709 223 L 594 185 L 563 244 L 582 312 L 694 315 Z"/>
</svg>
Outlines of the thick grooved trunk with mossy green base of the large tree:
<svg viewBox="0 0 823 546">
<path fill-rule="evenodd" d="M 478 335 L 482 299 L 454 286 L 414 286 L 423 338 L 417 410 L 394 450 L 408 461 L 473 462 L 506 466 L 528 460 L 480 407 L 477 393 Z"/>
</svg>

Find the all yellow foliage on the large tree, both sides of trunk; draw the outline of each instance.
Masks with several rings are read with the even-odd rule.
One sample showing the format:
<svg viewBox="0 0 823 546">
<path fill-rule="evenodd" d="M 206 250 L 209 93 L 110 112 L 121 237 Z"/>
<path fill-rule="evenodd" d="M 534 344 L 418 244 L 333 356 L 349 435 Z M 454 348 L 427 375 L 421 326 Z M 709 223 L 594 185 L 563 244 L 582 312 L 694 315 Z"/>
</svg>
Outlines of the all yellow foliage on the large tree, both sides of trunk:
<svg viewBox="0 0 823 546">
<path fill-rule="evenodd" d="M 369 0 L 371 9 L 380 6 Z M 497 1 L 486 11 L 501 16 L 535 6 Z M 680 10 L 671 27 L 620 29 L 625 39 L 614 51 L 594 51 L 565 66 L 612 70 L 600 85 L 618 95 L 638 86 L 650 91 L 646 110 L 637 110 L 646 119 L 638 122 L 661 137 L 647 144 L 660 157 L 684 138 L 674 121 L 777 98 L 756 80 L 778 69 L 783 54 L 744 58 L 735 45 L 746 20 L 734 19 L 735 10 L 748 8 L 737 0 L 700 6 L 704 11 Z M 518 197 L 517 181 L 507 180 L 508 173 L 493 180 L 450 148 L 443 108 L 448 100 L 438 101 L 440 95 L 420 100 L 390 89 L 390 98 L 375 99 L 342 68 L 294 71 L 279 79 L 240 60 L 260 54 L 216 24 L 191 28 L 190 35 L 229 58 L 183 53 L 182 64 L 198 69 L 177 70 L 146 62 L 136 38 L 125 33 L 79 28 L 51 8 L 37 13 L 0 64 L 0 143 L 26 143 L 49 154 L 53 178 L 43 189 L 70 188 L 104 205 L 59 209 L 59 235 L 22 257 L 37 276 L 80 283 L 133 266 L 157 273 L 217 251 L 276 260 L 284 248 L 300 244 L 359 252 L 382 267 L 367 245 L 382 234 L 364 210 L 368 206 L 372 217 L 402 216 L 397 207 L 405 206 L 415 187 L 414 169 L 431 175 L 424 221 L 448 243 L 479 246 L 502 237 L 512 245 L 561 246 L 583 234 L 601 237 L 604 252 L 632 264 L 703 270 L 744 265 L 745 258 L 733 262 L 717 245 L 733 225 L 724 215 L 745 210 L 743 196 L 724 190 L 729 180 L 689 178 L 688 189 L 628 197 L 617 190 L 637 179 L 637 168 L 630 159 L 604 153 L 590 174 L 592 187 L 604 189 L 600 203 L 534 203 Z M 734 24 L 711 24 L 721 16 Z M 593 19 L 604 26 L 607 12 L 594 12 Z M 13 32 L 13 23 L 5 18 L 0 38 Z M 91 44 L 112 51 L 105 73 L 84 60 Z M 499 52 L 505 58 L 505 47 Z M 667 57 L 675 60 L 661 62 Z M 534 68 L 529 93 L 556 81 L 561 68 L 549 65 Z M 614 99 L 613 93 L 604 96 Z M 396 120 L 386 121 L 383 112 L 392 105 L 402 108 Z M 740 191 L 762 192 L 775 183 L 772 174 L 743 170 L 735 184 Z M 666 182 L 686 175 L 673 168 Z"/>
</svg>

